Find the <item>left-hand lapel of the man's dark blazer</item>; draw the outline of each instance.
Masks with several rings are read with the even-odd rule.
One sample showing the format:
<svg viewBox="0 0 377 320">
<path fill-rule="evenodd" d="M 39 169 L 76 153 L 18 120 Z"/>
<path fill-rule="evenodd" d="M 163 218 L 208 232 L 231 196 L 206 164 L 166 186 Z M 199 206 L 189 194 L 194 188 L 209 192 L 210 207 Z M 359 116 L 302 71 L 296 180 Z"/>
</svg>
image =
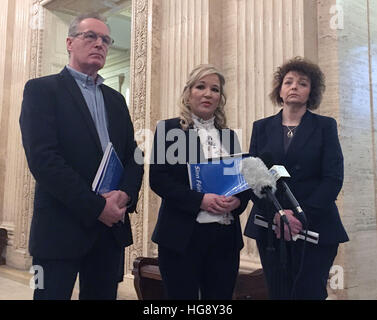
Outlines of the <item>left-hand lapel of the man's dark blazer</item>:
<svg viewBox="0 0 377 320">
<path fill-rule="evenodd" d="M 64 68 L 63 71 L 60 73 L 61 80 L 64 83 L 65 87 L 68 89 L 70 94 L 73 96 L 74 101 L 76 102 L 76 107 L 78 108 L 79 112 L 85 119 L 85 123 L 89 129 L 89 132 L 97 145 L 99 151 L 101 154 L 103 153 L 102 151 L 102 146 L 101 146 L 101 141 L 99 139 L 98 133 L 96 126 L 94 124 L 92 115 L 90 114 L 89 108 L 85 102 L 84 96 L 81 93 L 80 88 L 78 87 L 75 79 L 71 76 L 67 68 Z"/>
</svg>

